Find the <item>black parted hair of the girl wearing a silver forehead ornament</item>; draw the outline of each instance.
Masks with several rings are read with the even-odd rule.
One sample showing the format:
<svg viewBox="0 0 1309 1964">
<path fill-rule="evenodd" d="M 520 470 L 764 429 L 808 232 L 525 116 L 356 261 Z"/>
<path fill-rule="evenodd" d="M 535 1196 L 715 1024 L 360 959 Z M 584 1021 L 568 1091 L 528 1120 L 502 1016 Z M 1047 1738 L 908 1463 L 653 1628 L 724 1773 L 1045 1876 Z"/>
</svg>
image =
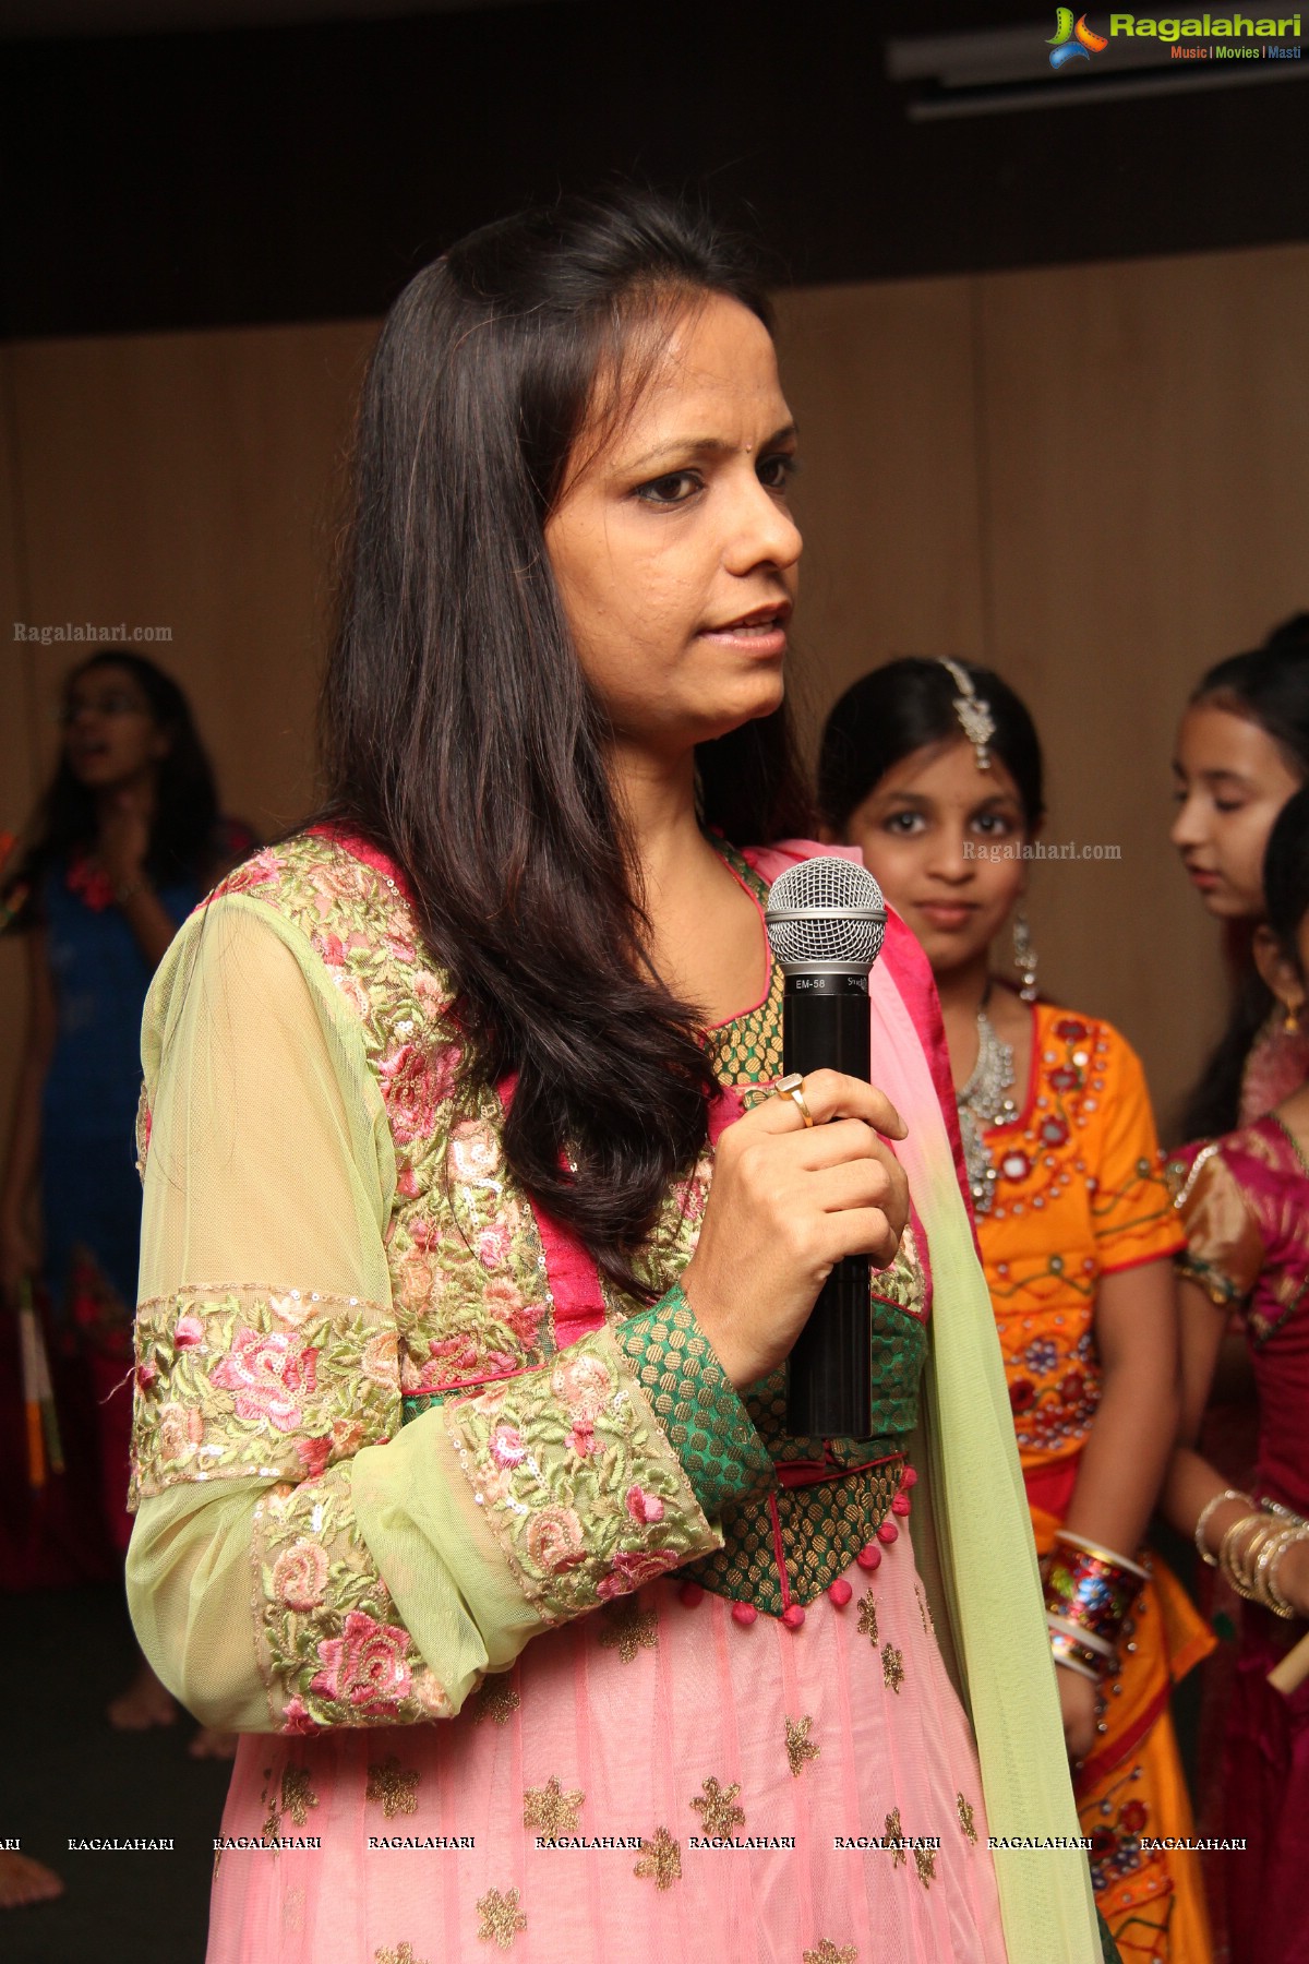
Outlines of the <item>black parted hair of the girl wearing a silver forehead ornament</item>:
<svg viewBox="0 0 1309 1964">
<path fill-rule="evenodd" d="M 1046 790 L 1026 703 L 993 670 L 977 662 L 954 666 L 991 709 L 989 748 L 1013 778 L 1026 829 L 1034 831 L 1046 813 Z M 918 654 L 887 662 L 846 689 L 826 719 L 818 750 L 818 807 L 834 833 L 846 829 L 852 811 L 901 758 L 964 735 L 958 695 L 946 664 Z"/>
</svg>

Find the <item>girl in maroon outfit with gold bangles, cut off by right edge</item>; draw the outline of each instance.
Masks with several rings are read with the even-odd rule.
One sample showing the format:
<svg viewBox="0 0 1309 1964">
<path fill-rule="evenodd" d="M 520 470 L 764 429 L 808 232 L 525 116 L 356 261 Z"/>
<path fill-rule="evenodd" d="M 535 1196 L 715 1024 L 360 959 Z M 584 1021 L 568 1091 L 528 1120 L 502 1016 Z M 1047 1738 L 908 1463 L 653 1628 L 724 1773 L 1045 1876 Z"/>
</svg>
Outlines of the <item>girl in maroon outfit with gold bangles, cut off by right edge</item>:
<svg viewBox="0 0 1309 1964">
<path fill-rule="evenodd" d="M 1309 976 L 1309 790 L 1285 805 L 1264 860 L 1268 925 L 1254 958 L 1291 1029 Z M 1309 1620 L 1309 1084 L 1276 1110 L 1174 1161 L 1181 1257 L 1183 1426 L 1164 1495 L 1244 1599 L 1225 1738 L 1225 1856 L 1232 1964 L 1307 1964 L 1309 1683 L 1268 1671 Z M 1215 1306 L 1217 1312 L 1215 1314 Z M 1236 1312 L 1258 1391 L 1250 1493 L 1195 1451 L 1227 1326 Z"/>
</svg>

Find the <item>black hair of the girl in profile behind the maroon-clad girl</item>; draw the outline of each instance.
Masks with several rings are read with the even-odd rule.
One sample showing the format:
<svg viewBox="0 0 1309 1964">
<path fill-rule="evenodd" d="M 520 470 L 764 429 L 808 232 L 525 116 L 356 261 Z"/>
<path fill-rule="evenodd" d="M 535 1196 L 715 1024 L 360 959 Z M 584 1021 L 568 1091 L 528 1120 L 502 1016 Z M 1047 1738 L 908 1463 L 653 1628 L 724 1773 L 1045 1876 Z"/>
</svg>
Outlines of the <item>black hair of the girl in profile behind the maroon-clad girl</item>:
<svg viewBox="0 0 1309 1964">
<path fill-rule="evenodd" d="M 1199 705 L 1258 723 L 1278 744 L 1287 770 L 1301 782 L 1309 778 L 1309 615 L 1283 621 L 1262 648 L 1215 662 L 1191 693 L 1189 707 Z M 1185 1139 L 1213 1139 L 1240 1121 L 1246 1059 L 1276 1000 L 1250 956 L 1252 927 L 1250 921 L 1227 927 L 1232 1008 L 1183 1102 Z"/>
</svg>

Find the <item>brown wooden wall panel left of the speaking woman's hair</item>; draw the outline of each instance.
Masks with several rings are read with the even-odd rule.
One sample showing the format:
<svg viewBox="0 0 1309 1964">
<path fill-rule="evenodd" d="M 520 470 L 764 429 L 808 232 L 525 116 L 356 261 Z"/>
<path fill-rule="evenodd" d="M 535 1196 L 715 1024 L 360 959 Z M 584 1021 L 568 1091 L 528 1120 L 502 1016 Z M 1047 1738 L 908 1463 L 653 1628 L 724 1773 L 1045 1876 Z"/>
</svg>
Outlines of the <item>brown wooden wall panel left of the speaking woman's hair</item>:
<svg viewBox="0 0 1309 1964">
<path fill-rule="evenodd" d="M 230 811 L 312 801 L 340 460 L 375 328 L 39 342 L 14 354 L 37 623 L 171 628 Z M 79 650 L 39 650 L 53 705 Z M 41 764 L 47 766 L 49 756 Z"/>
</svg>

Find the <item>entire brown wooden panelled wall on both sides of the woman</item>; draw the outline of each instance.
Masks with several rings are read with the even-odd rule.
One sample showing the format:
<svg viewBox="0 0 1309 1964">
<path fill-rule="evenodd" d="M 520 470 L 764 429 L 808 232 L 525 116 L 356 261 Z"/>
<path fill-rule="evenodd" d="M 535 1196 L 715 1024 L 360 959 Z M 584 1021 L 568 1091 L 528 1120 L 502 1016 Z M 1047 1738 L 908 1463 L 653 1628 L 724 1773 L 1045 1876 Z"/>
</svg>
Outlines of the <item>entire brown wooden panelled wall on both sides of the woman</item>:
<svg viewBox="0 0 1309 1964">
<path fill-rule="evenodd" d="M 1125 1027 L 1168 1106 L 1223 1002 L 1213 923 L 1166 843 L 1176 715 L 1205 664 L 1309 601 L 1309 247 L 809 289 L 779 312 L 805 452 L 801 729 L 812 744 L 836 693 L 893 654 L 1013 678 L 1048 750 L 1050 837 L 1123 846 L 1034 868 L 1044 974 Z M 155 652 L 228 807 L 265 831 L 312 799 L 340 458 L 373 334 L 0 354 L 18 438 L 4 621 L 171 627 Z M 49 764 L 79 652 L 10 650 L 0 827 Z M 0 947 L 6 1104 L 16 1027 Z"/>
</svg>

